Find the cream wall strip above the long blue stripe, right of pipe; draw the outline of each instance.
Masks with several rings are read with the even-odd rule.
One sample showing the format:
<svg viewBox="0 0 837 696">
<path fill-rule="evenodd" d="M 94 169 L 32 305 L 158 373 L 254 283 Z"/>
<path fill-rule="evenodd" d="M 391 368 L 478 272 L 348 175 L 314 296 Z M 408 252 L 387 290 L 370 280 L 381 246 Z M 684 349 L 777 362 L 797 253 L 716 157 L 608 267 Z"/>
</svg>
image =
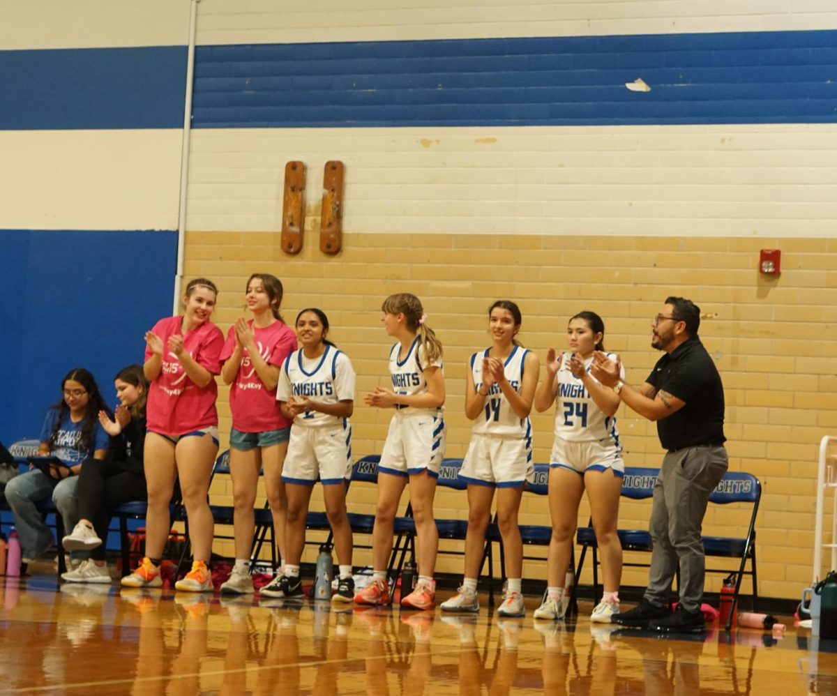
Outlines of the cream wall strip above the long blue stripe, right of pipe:
<svg viewBox="0 0 837 696">
<path fill-rule="evenodd" d="M 198 44 L 837 28 L 833 0 L 203 0 Z"/>
</svg>

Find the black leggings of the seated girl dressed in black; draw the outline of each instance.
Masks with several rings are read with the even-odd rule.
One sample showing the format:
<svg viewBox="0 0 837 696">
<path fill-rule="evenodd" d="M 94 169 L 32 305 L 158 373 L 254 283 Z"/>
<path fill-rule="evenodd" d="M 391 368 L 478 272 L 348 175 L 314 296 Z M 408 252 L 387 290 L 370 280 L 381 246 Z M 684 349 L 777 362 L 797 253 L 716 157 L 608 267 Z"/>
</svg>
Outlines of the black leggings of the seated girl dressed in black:
<svg viewBox="0 0 837 696">
<path fill-rule="evenodd" d="M 101 545 L 90 552 L 90 558 L 105 560 L 110 511 L 124 503 L 147 500 L 146 477 L 126 471 L 116 462 L 86 459 L 75 491 L 79 500 L 79 518 L 89 519 L 96 535 L 102 540 Z"/>
</svg>

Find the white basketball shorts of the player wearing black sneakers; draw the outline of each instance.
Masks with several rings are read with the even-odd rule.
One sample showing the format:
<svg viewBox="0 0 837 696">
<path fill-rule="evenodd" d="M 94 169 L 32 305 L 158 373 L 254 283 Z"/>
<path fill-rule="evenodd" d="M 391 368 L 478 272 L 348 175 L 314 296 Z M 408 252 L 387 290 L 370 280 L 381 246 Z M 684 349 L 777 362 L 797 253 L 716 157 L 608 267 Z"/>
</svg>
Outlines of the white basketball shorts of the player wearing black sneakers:
<svg viewBox="0 0 837 696">
<path fill-rule="evenodd" d="M 286 484 L 341 484 L 352 476 L 352 426 L 290 427 L 282 480 Z"/>
</svg>

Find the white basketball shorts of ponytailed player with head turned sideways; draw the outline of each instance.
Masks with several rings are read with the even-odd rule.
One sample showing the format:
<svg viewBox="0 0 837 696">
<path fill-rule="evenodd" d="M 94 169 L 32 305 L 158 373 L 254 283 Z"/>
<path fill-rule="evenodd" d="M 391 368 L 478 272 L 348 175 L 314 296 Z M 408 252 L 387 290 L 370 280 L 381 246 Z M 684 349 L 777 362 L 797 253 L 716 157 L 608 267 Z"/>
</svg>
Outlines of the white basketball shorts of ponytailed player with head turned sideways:
<svg viewBox="0 0 837 696">
<path fill-rule="evenodd" d="M 383 443 L 379 473 L 411 476 L 424 469 L 434 478 L 444 458 L 444 419 L 438 416 L 396 413 Z"/>
</svg>

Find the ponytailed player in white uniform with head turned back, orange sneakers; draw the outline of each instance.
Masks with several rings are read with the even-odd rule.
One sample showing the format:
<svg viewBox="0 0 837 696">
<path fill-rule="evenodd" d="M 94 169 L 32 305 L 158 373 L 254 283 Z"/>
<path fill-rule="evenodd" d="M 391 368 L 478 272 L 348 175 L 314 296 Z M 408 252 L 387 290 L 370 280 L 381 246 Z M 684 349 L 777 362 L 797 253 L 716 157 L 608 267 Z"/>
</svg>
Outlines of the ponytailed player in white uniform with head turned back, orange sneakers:
<svg viewBox="0 0 837 696">
<path fill-rule="evenodd" d="M 382 605 L 390 601 L 387 563 L 393 549 L 393 520 L 409 482 L 419 581 L 415 590 L 402 597 L 401 606 L 432 609 L 436 594 L 433 574 L 439 549 L 433 499 L 444 458 L 442 344 L 426 324 L 427 315 L 415 295 L 390 295 L 381 309 L 384 328 L 398 340 L 389 354 L 392 388 L 378 386 L 367 394 L 365 402 L 394 412 L 377 468 L 372 582 L 355 595 L 355 602 Z"/>
</svg>

